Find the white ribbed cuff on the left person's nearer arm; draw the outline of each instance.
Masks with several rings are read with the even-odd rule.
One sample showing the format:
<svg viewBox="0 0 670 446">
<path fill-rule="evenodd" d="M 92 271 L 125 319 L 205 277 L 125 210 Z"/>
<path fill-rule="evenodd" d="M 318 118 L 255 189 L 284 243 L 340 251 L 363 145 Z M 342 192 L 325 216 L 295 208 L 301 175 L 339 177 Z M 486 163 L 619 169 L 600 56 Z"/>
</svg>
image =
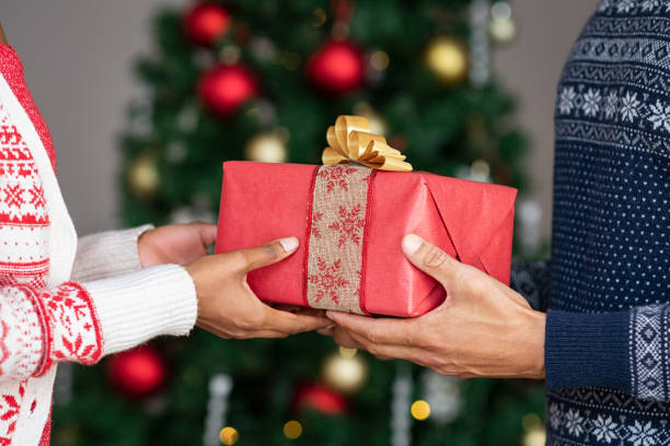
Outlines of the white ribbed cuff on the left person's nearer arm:
<svg viewBox="0 0 670 446">
<path fill-rule="evenodd" d="M 176 265 L 84 283 L 100 318 L 103 355 L 161 334 L 187 334 L 197 317 L 195 285 Z"/>
</svg>

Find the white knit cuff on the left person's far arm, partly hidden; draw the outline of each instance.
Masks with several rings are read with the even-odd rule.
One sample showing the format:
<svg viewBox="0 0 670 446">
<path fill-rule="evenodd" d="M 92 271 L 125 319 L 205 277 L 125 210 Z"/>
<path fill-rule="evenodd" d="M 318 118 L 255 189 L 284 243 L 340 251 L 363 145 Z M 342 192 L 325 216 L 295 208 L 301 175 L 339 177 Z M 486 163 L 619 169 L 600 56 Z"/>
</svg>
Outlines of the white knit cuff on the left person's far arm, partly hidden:
<svg viewBox="0 0 670 446">
<path fill-rule="evenodd" d="M 138 271 L 141 268 L 137 240 L 153 226 L 91 234 L 79 239 L 72 280 L 90 282 Z"/>
</svg>

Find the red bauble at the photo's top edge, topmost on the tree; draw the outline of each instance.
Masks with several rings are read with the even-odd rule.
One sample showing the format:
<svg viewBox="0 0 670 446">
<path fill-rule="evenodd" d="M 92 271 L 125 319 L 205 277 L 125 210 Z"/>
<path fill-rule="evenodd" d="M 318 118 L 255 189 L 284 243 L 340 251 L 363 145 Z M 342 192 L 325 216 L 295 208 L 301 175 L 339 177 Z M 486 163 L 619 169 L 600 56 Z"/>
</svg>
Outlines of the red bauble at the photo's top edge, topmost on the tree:
<svg viewBox="0 0 670 446">
<path fill-rule="evenodd" d="M 230 27 L 232 16 L 224 8 L 213 3 L 196 4 L 184 20 L 186 34 L 199 45 L 211 45 Z"/>
</svg>

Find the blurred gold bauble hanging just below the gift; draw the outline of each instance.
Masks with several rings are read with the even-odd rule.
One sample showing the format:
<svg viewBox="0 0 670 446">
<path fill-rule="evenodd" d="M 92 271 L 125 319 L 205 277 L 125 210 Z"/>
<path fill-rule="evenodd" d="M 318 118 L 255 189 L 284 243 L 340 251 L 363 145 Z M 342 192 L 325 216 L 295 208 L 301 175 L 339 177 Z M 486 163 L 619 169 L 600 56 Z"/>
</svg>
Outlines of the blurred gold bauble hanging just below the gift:
<svg viewBox="0 0 670 446">
<path fill-rule="evenodd" d="M 368 379 L 368 364 L 360 354 L 333 353 L 323 362 L 322 377 L 332 389 L 355 394 Z"/>
</svg>

